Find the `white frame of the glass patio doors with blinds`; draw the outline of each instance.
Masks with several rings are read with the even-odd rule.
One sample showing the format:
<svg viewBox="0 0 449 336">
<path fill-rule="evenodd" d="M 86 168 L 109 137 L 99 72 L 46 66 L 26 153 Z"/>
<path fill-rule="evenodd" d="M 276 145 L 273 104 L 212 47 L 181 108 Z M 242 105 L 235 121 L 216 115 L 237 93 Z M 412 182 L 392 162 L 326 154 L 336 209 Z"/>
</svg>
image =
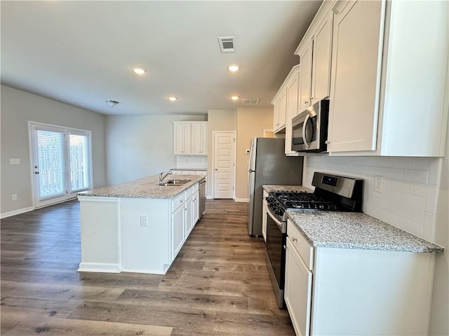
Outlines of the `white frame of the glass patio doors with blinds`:
<svg viewBox="0 0 449 336">
<path fill-rule="evenodd" d="M 31 196 L 32 196 L 32 207 L 33 209 L 37 209 L 36 208 L 36 193 L 39 193 L 38 190 L 36 190 L 36 186 L 34 183 L 34 179 L 36 176 L 34 176 L 34 141 L 33 141 L 33 126 L 32 125 L 38 125 L 38 126 L 42 126 L 42 127 L 54 127 L 54 128 L 59 128 L 61 130 L 64 130 L 65 132 L 67 131 L 72 131 L 72 132 L 80 132 L 80 133 L 88 133 L 89 136 L 89 160 L 90 160 L 90 167 L 89 167 L 89 179 L 91 181 L 91 189 L 93 188 L 93 162 L 92 162 L 92 132 L 90 130 L 82 130 L 81 128 L 74 128 L 74 127 L 66 127 L 66 126 L 60 126 L 60 125 L 54 125 L 54 124 L 48 124 L 48 123 L 40 123 L 39 121 L 32 121 L 32 120 L 28 120 L 28 146 L 29 146 L 29 174 L 30 174 L 30 183 L 31 183 Z M 66 139 L 65 139 L 66 141 Z M 69 158 L 68 158 L 69 154 L 65 153 L 65 160 L 66 163 L 69 163 Z M 67 169 L 66 169 L 66 174 L 67 174 Z M 67 178 L 67 176 L 66 176 Z M 66 182 L 67 184 L 67 182 Z M 68 192 L 68 188 L 69 186 L 66 186 L 66 190 Z M 76 192 L 78 193 L 78 192 Z M 58 202 L 54 202 L 51 204 L 43 204 L 41 207 L 48 207 L 51 206 L 53 204 L 58 204 L 58 203 L 62 203 L 62 202 L 67 202 L 67 200 L 72 200 L 74 198 L 76 198 L 76 193 L 67 193 L 67 198 L 65 200 L 60 200 Z"/>
</svg>

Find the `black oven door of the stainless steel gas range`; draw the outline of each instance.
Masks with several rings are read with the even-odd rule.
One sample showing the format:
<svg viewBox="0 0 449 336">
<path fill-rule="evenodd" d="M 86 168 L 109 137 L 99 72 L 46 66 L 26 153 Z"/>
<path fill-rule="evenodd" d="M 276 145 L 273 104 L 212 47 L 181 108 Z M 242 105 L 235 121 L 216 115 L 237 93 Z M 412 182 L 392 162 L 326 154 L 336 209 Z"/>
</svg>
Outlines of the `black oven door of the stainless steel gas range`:
<svg viewBox="0 0 449 336">
<path fill-rule="evenodd" d="M 276 278 L 277 287 L 283 290 L 286 274 L 286 239 L 287 223 L 279 221 L 278 218 L 267 211 L 267 254 L 269 262 Z M 276 288 L 275 288 L 276 289 Z M 282 293 L 283 295 L 283 293 Z M 283 300 L 283 296 L 282 296 Z"/>
</svg>

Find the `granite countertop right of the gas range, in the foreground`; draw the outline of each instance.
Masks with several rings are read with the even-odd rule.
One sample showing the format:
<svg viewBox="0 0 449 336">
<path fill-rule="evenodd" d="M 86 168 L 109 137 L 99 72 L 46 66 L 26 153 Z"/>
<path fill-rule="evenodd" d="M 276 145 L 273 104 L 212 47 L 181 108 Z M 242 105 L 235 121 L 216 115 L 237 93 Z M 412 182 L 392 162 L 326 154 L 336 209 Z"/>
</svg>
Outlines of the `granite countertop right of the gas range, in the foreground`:
<svg viewBox="0 0 449 336">
<path fill-rule="evenodd" d="M 443 253 L 444 248 L 363 213 L 287 210 L 315 247 Z"/>
</svg>

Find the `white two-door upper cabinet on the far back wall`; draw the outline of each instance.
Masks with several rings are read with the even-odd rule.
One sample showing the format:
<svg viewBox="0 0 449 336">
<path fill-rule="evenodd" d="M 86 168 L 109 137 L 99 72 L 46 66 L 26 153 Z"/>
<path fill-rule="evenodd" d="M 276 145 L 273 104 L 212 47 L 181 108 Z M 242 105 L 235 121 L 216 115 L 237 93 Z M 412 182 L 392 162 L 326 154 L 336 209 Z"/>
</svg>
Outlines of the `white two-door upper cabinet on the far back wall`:
<svg viewBox="0 0 449 336">
<path fill-rule="evenodd" d="M 207 121 L 173 121 L 175 155 L 208 155 Z"/>
</svg>

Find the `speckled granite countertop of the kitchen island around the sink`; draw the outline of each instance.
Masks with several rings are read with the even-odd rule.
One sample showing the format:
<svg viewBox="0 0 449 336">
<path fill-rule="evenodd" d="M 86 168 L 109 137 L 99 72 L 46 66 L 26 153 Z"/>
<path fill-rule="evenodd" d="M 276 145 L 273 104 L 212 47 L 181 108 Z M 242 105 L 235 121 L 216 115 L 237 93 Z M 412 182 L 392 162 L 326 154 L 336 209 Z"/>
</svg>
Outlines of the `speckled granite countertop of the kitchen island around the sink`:
<svg viewBox="0 0 449 336">
<path fill-rule="evenodd" d="M 78 193 L 78 196 L 96 197 L 128 197 L 128 198 L 159 198 L 171 199 L 180 195 L 184 190 L 204 179 L 201 175 L 168 175 L 163 181 L 170 179 L 192 180 L 182 186 L 158 186 L 159 175 L 145 177 L 143 179 L 120 183 L 115 186 L 98 188 Z"/>
</svg>

